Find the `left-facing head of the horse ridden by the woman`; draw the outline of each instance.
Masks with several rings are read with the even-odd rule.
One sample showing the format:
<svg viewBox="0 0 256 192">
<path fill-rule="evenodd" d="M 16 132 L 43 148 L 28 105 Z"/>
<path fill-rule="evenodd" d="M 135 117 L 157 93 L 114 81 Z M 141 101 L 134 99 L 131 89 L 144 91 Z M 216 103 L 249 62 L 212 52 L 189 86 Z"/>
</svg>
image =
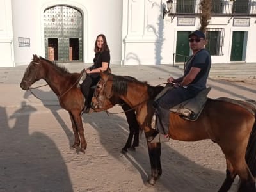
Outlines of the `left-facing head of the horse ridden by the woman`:
<svg viewBox="0 0 256 192">
<path fill-rule="evenodd" d="M 33 83 L 42 78 L 42 72 L 40 70 L 42 65 L 40 62 L 40 58 L 38 58 L 36 55 L 33 55 L 33 60 L 26 68 L 26 71 L 24 72 L 23 78 L 20 82 L 20 88 L 22 88 L 22 90 L 28 90 Z"/>
</svg>

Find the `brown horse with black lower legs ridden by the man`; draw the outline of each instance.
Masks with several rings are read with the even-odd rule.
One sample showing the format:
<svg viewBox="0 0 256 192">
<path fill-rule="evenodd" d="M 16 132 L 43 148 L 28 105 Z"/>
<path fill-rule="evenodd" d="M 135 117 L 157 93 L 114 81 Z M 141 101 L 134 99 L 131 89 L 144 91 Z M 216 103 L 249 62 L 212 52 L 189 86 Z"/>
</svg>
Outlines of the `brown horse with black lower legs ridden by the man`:
<svg viewBox="0 0 256 192">
<path fill-rule="evenodd" d="M 119 97 L 136 111 L 136 119 L 146 138 L 152 134 L 153 100 L 163 86 L 150 86 L 147 82 L 100 72 L 100 80 L 92 100 L 93 108 L 108 109 L 109 99 Z M 255 106 L 241 100 L 210 99 L 196 121 L 189 121 L 177 113 L 170 113 L 168 136 L 180 141 L 210 139 L 225 154 L 226 178 L 219 191 L 228 191 L 236 175 L 238 191 L 255 192 L 256 175 L 256 123 Z M 230 102 L 229 102 L 230 101 Z M 147 141 L 151 164 L 148 182 L 156 184 L 162 173 L 161 143 Z"/>
</svg>

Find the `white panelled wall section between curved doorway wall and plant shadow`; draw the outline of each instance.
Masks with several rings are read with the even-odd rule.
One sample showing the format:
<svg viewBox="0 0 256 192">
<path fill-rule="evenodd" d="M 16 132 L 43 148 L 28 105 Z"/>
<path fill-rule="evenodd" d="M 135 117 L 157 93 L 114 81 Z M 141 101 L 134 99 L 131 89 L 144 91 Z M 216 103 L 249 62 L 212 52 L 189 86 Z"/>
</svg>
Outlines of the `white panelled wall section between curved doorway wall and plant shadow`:
<svg viewBox="0 0 256 192">
<path fill-rule="evenodd" d="M 160 0 L 124 1 L 122 31 L 123 65 L 161 63 L 164 39 Z"/>
</svg>

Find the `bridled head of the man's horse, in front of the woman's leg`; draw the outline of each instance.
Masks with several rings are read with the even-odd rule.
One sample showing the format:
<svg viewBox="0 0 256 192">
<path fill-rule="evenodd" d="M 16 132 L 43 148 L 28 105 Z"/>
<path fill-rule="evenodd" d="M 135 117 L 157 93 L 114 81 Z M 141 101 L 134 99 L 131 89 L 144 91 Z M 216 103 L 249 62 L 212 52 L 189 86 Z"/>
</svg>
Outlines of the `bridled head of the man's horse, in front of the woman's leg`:
<svg viewBox="0 0 256 192">
<path fill-rule="evenodd" d="M 112 82 L 108 73 L 100 71 L 100 80 L 95 88 L 92 98 L 92 108 L 102 111 L 113 107 L 118 101 L 117 97 L 113 97 L 111 92 Z"/>
</svg>

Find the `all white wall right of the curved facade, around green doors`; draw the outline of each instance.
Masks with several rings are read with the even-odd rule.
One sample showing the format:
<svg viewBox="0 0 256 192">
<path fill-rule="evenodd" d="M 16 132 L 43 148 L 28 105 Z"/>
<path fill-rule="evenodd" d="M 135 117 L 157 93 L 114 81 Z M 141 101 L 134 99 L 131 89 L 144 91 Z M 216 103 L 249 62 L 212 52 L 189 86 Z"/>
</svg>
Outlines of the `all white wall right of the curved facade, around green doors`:
<svg viewBox="0 0 256 192">
<path fill-rule="evenodd" d="M 200 27 L 200 19 L 194 15 L 179 17 L 195 17 L 195 26 L 177 26 L 177 15 L 163 19 L 164 5 L 166 1 L 163 0 L 124 0 L 123 65 L 171 64 L 176 50 L 177 31 L 195 31 Z M 223 55 L 212 56 L 212 63 L 230 63 L 233 31 L 248 31 L 247 42 L 244 44 L 245 62 L 256 61 L 255 17 L 250 18 L 250 26 L 233 26 L 233 19 L 212 17 L 210 20 L 209 28 L 225 29 Z"/>
</svg>

